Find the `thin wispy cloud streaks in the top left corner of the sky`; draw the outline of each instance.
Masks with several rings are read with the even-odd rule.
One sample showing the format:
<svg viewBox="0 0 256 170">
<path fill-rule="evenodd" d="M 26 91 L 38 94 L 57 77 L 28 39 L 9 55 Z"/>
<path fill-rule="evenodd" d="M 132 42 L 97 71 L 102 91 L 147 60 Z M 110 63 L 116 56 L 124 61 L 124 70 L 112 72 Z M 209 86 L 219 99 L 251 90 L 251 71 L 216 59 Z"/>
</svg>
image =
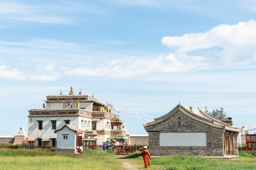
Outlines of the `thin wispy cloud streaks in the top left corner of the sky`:
<svg viewBox="0 0 256 170">
<path fill-rule="evenodd" d="M 29 21 L 36 23 L 71 24 L 72 14 L 78 12 L 102 15 L 105 10 L 86 4 L 61 2 L 61 4 L 25 4 L 19 1 L 0 2 L 0 28 L 10 28 L 15 21 Z M 17 24 L 17 23 L 15 23 Z"/>
</svg>

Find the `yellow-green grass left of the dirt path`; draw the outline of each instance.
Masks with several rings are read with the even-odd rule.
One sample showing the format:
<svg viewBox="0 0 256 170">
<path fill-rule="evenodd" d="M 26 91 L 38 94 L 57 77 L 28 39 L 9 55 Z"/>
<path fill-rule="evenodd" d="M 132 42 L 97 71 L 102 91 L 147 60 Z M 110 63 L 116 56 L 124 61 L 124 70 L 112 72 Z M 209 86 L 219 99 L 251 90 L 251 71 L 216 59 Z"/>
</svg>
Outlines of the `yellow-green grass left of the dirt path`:
<svg viewBox="0 0 256 170">
<path fill-rule="evenodd" d="M 76 155 L 43 150 L 1 149 L 0 169 L 119 169 L 119 167 L 108 158 L 108 153 Z"/>
</svg>

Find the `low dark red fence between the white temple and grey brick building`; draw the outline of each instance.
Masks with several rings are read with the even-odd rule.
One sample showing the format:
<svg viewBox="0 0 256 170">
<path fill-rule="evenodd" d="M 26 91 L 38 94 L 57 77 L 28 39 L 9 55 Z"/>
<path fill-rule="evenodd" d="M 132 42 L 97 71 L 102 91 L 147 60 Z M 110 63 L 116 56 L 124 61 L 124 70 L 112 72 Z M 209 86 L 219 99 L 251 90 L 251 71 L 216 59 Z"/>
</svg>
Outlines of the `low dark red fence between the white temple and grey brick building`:
<svg viewBox="0 0 256 170">
<path fill-rule="evenodd" d="M 102 145 L 88 145 L 86 146 L 89 150 L 112 150 L 117 155 L 130 155 L 136 151 L 142 151 L 143 146 L 128 146 L 128 145 L 109 145 L 103 149 Z"/>
</svg>

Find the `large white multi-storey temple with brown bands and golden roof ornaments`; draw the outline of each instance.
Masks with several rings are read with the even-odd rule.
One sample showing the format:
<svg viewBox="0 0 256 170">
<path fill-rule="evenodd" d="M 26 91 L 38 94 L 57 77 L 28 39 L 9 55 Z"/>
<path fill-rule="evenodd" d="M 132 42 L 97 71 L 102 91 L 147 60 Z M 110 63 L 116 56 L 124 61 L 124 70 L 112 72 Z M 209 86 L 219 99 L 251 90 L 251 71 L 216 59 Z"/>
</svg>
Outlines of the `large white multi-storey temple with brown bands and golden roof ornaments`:
<svg viewBox="0 0 256 170">
<path fill-rule="evenodd" d="M 85 131 L 83 142 L 118 143 L 127 139 L 118 115 L 94 96 L 75 95 L 72 87 L 69 95 L 47 96 L 43 109 L 29 110 L 29 139 L 36 139 L 39 145 L 56 145 L 54 131 L 66 124 Z"/>
</svg>

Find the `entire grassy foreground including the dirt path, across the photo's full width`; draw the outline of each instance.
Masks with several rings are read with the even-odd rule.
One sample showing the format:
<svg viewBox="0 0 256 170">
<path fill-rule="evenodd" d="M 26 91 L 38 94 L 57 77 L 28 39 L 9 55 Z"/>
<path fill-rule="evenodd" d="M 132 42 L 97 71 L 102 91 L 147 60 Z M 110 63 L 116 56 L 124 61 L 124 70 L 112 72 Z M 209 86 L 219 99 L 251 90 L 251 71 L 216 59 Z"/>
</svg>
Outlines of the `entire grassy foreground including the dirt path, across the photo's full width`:
<svg viewBox="0 0 256 170">
<path fill-rule="evenodd" d="M 143 169 L 140 152 L 115 155 L 102 150 L 85 150 L 86 155 L 44 150 L 0 149 L 0 169 Z M 243 154 L 230 160 L 172 155 L 152 158 L 148 169 L 256 169 L 256 158 Z"/>
</svg>

